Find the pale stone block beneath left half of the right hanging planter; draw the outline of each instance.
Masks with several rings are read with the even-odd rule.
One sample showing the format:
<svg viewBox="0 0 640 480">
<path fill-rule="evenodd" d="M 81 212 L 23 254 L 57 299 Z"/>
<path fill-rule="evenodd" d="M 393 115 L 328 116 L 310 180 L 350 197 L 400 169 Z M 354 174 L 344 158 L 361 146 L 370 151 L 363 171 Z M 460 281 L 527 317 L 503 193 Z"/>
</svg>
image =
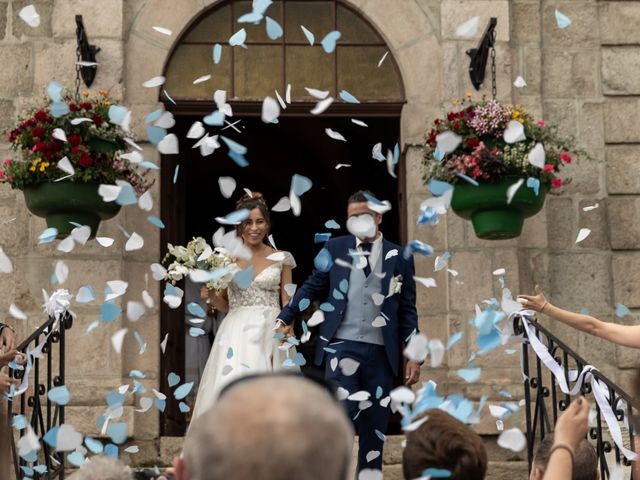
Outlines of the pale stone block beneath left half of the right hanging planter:
<svg viewBox="0 0 640 480">
<path fill-rule="evenodd" d="M 449 262 L 459 275 L 449 280 L 450 308 L 473 311 L 476 303 L 493 296 L 492 258 L 482 251 L 456 252 Z M 464 282 L 459 285 L 455 280 Z"/>
</svg>

